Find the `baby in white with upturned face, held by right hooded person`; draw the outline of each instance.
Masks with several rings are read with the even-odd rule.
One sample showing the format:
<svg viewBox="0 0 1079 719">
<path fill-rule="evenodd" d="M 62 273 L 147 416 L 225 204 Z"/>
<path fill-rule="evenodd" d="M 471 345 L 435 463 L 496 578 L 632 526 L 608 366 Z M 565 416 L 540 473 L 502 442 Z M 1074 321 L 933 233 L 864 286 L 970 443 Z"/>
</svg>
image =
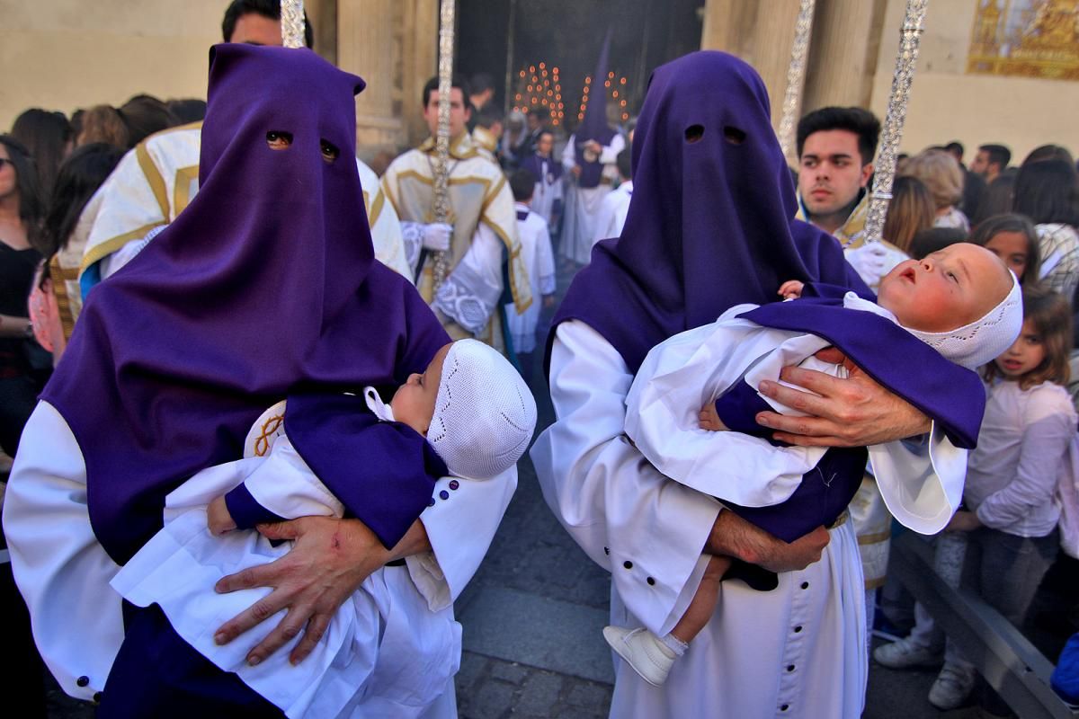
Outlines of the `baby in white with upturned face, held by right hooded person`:
<svg viewBox="0 0 1079 719">
<path fill-rule="evenodd" d="M 795 299 L 802 295 L 803 288 L 800 281 L 788 281 L 780 287 L 779 293 Z M 878 303 L 874 305 L 852 292 L 843 296 L 844 308 L 863 310 L 896 322 L 943 358 L 968 370 L 980 367 L 1010 346 L 1022 323 L 1017 280 L 995 255 L 969 244 L 954 245 L 923 261 L 909 260 L 900 264 L 882 280 Z M 839 513 L 857 490 L 864 459 L 856 458 L 849 464 L 850 481 L 846 482 L 846 478 L 839 476 L 844 471 L 843 460 L 833 457 L 825 461 L 822 448 L 775 447 L 765 440 L 741 433 L 715 435 L 701 430 L 728 430 L 728 424 L 736 425 L 728 419 L 730 417 L 738 419 L 734 427 L 736 432 L 746 431 L 747 423 L 740 417 L 746 413 L 743 405 L 748 403 L 752 409 L 757 400 L 752 390 L 739 396 L 740 390 L 755 389 L 762 379 L 775 379 L 779 370 L 791 361 L 804 360 L 804 367 L 833 375 L 845 373 L 842 365 L 823 362 L 812 355 L 829 344 L 849 352 L 841 338 L 842 332 L 834 334 L 836 330 L 830 328 L 829 322 L 852 323 L 859 316 L 841 314 L 835 319 L 823 320 L 819 327 L 832 330 L 828 340 L 816 337 L 819 342 L 810 341 L 803 346 L 800 343 L 812 337 L 811 334 L 793 332 L 795 328 L 791 326 L 757 324 L 753 315 L 747 314 L 753 307 L 737 305 L 714 323 L 677 334 L 653 348 L 626 400 L 629 410 L 626 434 L 665 475 L 716 497 L 761 528 L 793 541 L 821 523 L 844 521 Z M 882 340 L 877 341 L 872 326 L 858 328 L 857 332 L 863 334 L 863 338 L 872 337 L 876 352 L 909 350 L 896 343 L 894 337 L 888 342 L 889 337 L 880 335 Z M 933 376 L 938 378 L 944 376 L 940 368 L 916 361 L 911 364 L 917 369 L 905 375 L 883 364 L 865 363 L 864 358 L 860 361 L 866 372 L 914 402 L 921 399 L 918 389 L 928 384 L 927 374 L 935 373 Z M 739 383 L 739 378 L 746 382 Z M 976 405 L 975 400 L 983 399 L 984 392 L 976 383 L 970 386 L 970 391 L 971 404 Z M 750 392 L 753 396 L 747 397 Z M 697 413 L 700 400 L 704 405 Z M 777 406 L 776 410 L 788 412 L 789 407 Z M 672 425 L 678 431 L 671 431 Z M 873 454 L 870 456 L 872 458 Z M 954 466 L 956 471 L 941 475 L 941 488 L 950 498 L 961 492 L 965 468 L 962 454 Z M 889 507 L 894 507 L 893 513 L 900 522 L 918 531 L 940 529 L 939 522 L 927 526 L 926 512 L 910 512 L 897 501 L 906 492 L 904 481 L 911 481 L 904 468 L 882 465 L 875 469 L 885 499 L 891 500 Z M 811 471 L 820 471 L 822 476 L 829 478 L 823 480 L 825 486 L 816 495 L 812 489 L 803 492 L 801 486 L 803 481 L 809 481 L 808 472 Z M 849 492 L 844 494 L 845 489 Z M 829 503 L 831 510 L 820 509 Z M 951 502 L 953 510 L 956 503 Z M 776 511 L 777 506 L 784 504 L 782 511 L 790 512 L 786 516 Z M 802 517 L 801 523 L 797 517 Z M 789 534 L 784 535 L 777 525 Z M 674 660 L 685 652 L 688 642 L 711 619 L 719 602 L 720 581 L 730 566 L 730 557 L 712 556 L 709 559 L 686 611 L 667 636 L 660 638 L 643 627 L 630 631 L 607 626 L 604 637 L 645 681 L 661 685 Z M 757 586 L 752 576 L 742 578 L 754 589 L 770 589 Z"/>
</svg>

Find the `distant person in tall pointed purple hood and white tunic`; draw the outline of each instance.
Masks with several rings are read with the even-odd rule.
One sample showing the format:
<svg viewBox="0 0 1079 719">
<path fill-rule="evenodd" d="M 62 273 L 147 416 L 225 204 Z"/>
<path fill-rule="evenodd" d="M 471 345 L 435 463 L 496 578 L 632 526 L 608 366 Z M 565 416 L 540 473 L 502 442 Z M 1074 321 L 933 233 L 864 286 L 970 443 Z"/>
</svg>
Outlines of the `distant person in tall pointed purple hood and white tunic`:
<svg viewBox="0 0 1079 719">
<path fill-rule="evenodd" d="M 626 147 L 623 136 L 611 127 L 606 89 L 600 82 L 607 74 L 610 41 L 609 34 L 592 75 L 596 82 L 591 85 L 585 116 L 562 149 L 562 166 L 569 174 L 569 180 L 559 252 L 577 264 L 587 264 L 591 255 L 600 204 L 617 177 L 615 162 Z"/>
</svg>

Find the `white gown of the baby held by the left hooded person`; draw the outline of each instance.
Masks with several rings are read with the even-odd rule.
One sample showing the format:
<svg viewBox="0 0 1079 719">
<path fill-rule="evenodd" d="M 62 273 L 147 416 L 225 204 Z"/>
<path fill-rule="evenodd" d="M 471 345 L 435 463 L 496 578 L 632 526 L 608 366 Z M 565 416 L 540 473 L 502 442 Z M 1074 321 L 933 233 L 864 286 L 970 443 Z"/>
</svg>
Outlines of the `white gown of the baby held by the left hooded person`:
<svg viewBox="0 0 1079 719">
<path fill-rule="evenodd" d="M 262 426 L 261 419 L 256 423 Z M 469 480 L 459 480 L 456 486 L 461 482 Z M 446 691 L 460 666 L 461 625 L 453 620 L 452 605 L 432 606 L 405 568 L 386 567 L 366 579 L 299 665 L 288 661 L 299 637 L 258 666 L 247 664 L 247 654 L 270 633 L 272 622 L 223 647 L 214 641 L 215 627 L 269 593 L 218 594 L 217 580 L 268 564 L 290 549 L 273 547 L 254 530 L 209 534 L 207 504 L 240 483 L 278 516 L 340 517 L 344 511 L 283 434 L 264 457 L 209 467 L 169 493 L 164 528 L 124 565 L 112 587 L 136 606 L 158 604 L 185 641 L 219 668 L 234 672 L 290 719 L 361 717 L 377 705 L 392 706 L 397 717 L 419 716 Z M 455 495 L 450 493 L 448 501 Z M 387 662 L 380 661 L 383 654 Z"/>
</svg>

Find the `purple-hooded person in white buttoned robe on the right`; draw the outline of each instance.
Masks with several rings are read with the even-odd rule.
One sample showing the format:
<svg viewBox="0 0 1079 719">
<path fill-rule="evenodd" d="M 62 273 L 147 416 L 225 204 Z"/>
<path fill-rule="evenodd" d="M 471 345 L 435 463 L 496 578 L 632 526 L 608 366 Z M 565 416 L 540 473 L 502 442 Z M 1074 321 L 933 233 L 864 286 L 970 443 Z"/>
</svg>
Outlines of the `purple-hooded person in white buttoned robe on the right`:
<svg viewBox="0 0 1079 719">
<path fill-rule="evenodd" d="M 544 497 L 611 572 L 612 624 L 669 634 L 714 555 L 778 577 L 769 592 L 725 582 L 716 611 L 663 687 L 618 661 L 611 716 L 856 719 L 868 661 L 850 523 L 786 543 L 664 476 L 625 428 L 633 376 L 664 340 L 736 304 L 774 302 L 792 278 L 862 295 L 869 289 L 838 243 L 793 220 L 794 190 L 764 83 L 730 55 L 694 53 L 653 73 L 634 134 L 633 181 L 622 235 L 596 246 L 555 317 L 557 420 L 532 450 Z M 757 414 L 779 430 L 776 439 L 882 444 L 915 476 L 934 472 L 933 456 L 957 452 L 942 428 L 857 368 L 846 379 L 802 368 L 781 376 L 815 396 L 775 382 L 762 382 L 762 393 L 814 416 Z M 920 432 L 930 432 L 929 457 L 893 442 Z"/>
</svg>

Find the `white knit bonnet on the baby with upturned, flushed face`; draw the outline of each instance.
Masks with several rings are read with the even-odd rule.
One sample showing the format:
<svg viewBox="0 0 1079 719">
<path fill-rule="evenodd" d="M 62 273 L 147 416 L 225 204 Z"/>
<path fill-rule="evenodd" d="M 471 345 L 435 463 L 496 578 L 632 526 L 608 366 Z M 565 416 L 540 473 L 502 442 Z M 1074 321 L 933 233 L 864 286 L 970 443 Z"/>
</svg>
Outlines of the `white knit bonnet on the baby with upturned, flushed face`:
<svg viewBox="0 0 1079 719">
<path fill-rule="evenodd" d="M 1011 347 L 1023 329 L 1023 291 L 1015 273 L 1008 271 L 1012 287 L 1000 303 L 970 324 L 947 332 L 923 332 L 905 328 L 911 334 L 956 364 L 976 370 Z"/>
</svg>

